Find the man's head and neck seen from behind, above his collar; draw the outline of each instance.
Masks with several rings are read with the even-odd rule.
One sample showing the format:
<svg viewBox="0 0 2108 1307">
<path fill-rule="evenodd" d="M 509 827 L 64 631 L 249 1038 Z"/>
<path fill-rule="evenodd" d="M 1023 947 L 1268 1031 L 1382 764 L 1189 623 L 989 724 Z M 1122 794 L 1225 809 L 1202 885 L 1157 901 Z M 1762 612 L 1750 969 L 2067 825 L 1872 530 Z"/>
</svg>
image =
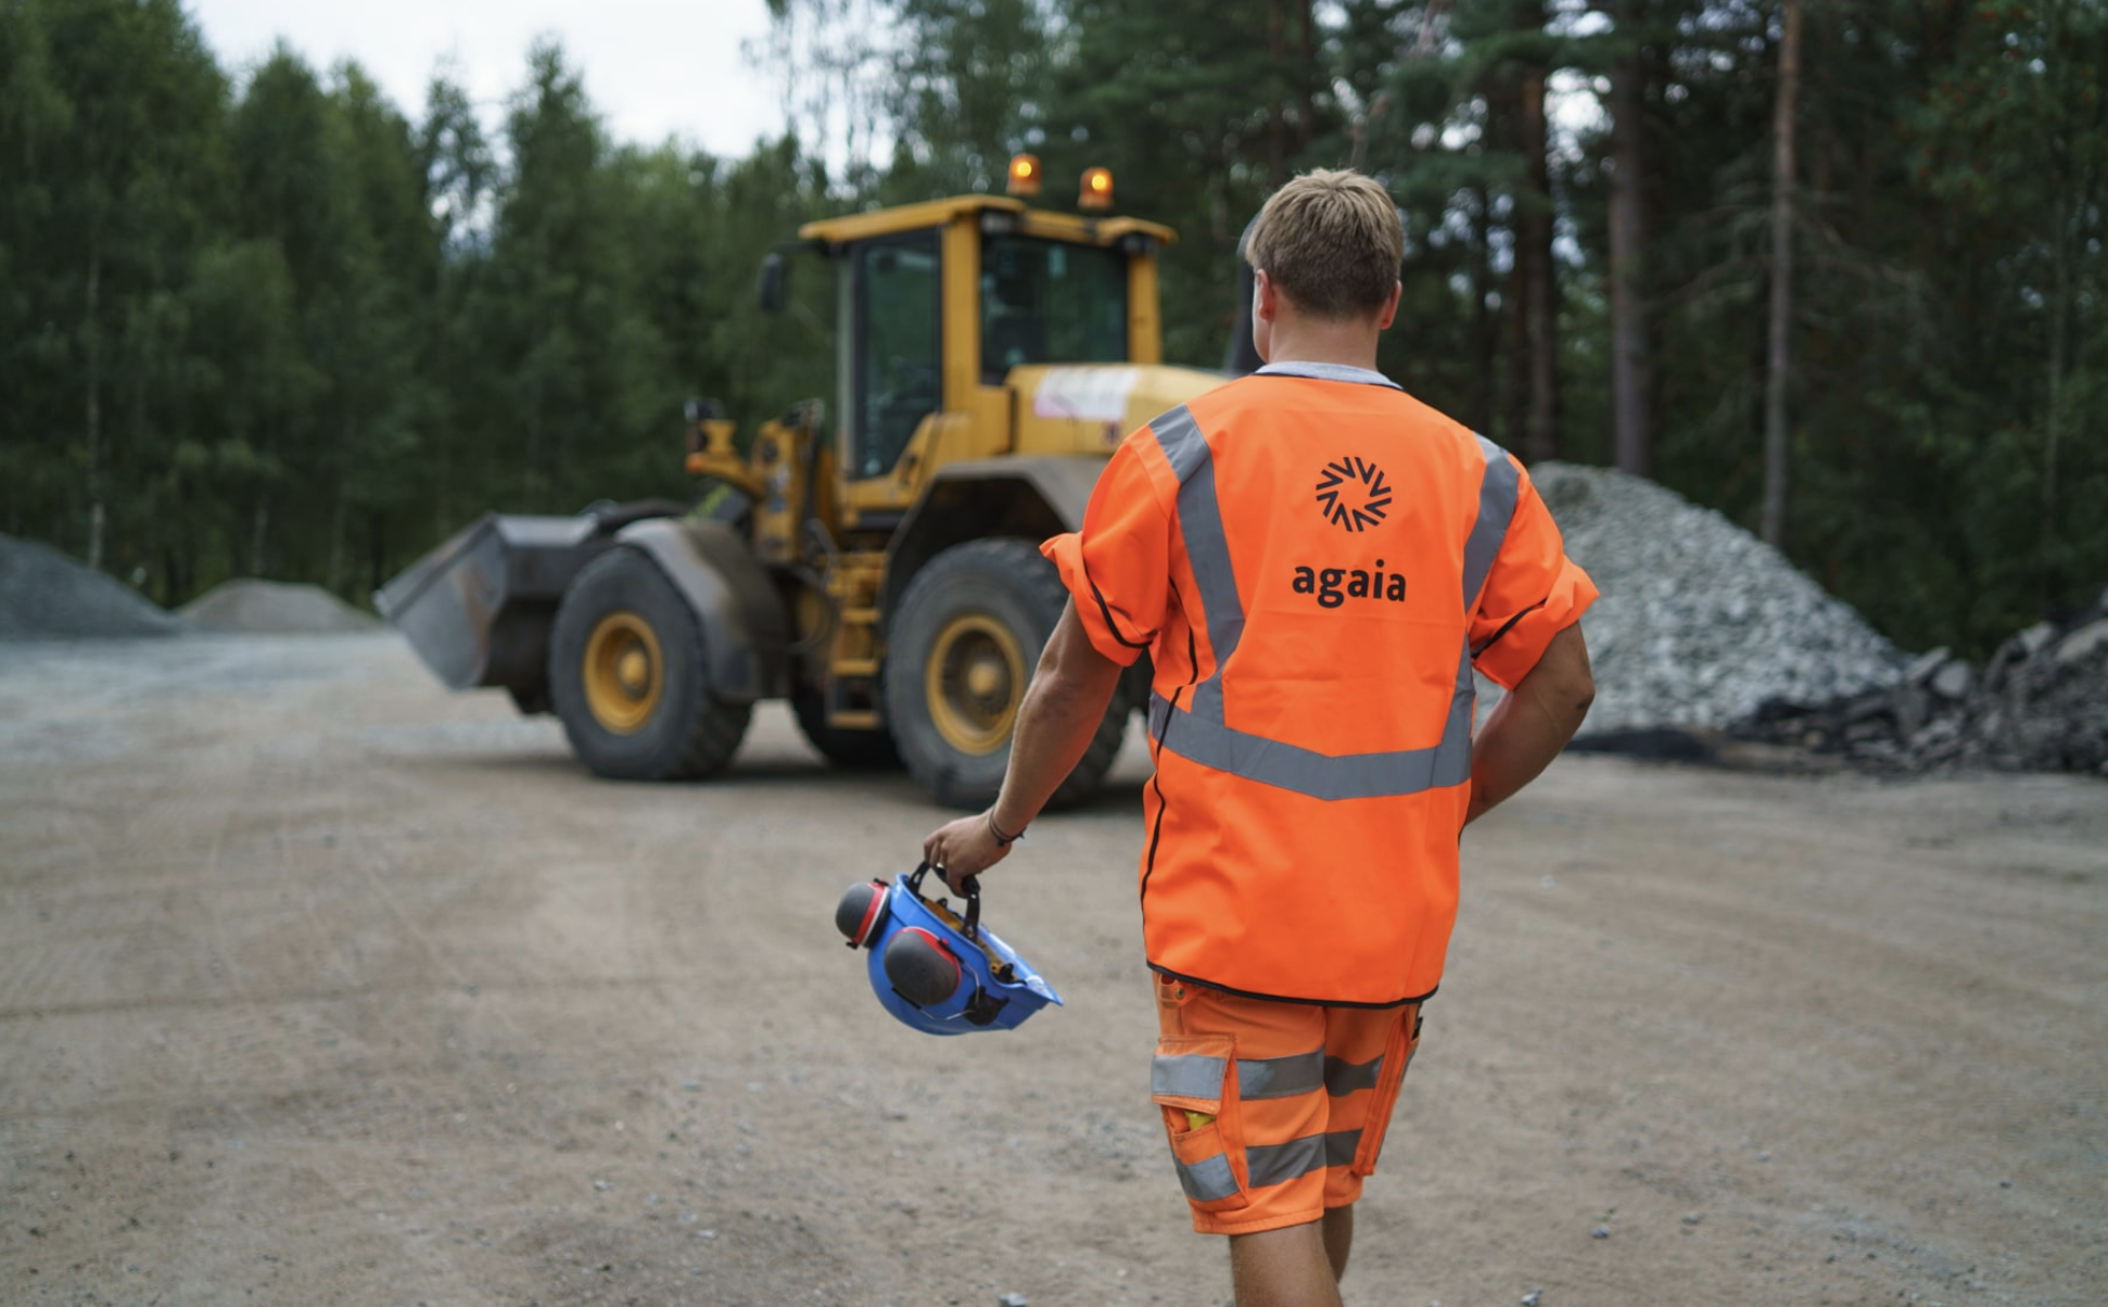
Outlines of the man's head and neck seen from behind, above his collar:
<svg viewBox="0 0 2108 1307">
<path fill-rule="evenodd" d="M 1275 337 L 1318 329 L 1355 339 L 1374 358 L 1377 333 L 1398 312 L 1406 232 L 1391 196 L 1360 173 L 1305 173 L 1252 219 L 1244 259 L 1256 274 L 1252 346 L 1273 360 Z M 1307 342 L 1299 342 L 1307 344 Z M 1296 346 L 1292 346 L 1296 348 Z"/>
</svg>

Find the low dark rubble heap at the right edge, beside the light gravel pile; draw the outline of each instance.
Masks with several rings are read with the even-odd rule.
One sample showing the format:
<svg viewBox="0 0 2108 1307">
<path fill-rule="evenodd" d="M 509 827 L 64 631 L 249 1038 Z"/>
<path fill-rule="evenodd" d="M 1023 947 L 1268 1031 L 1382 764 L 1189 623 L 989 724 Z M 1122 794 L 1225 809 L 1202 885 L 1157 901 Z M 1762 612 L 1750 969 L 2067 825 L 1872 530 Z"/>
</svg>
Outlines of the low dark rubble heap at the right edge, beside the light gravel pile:
<svg viewBox="0 0 2108 1307">
<path fill-rule="evenodd" d="M 1933 649 L 1901 683 L 1767 704 L 1735 729 L 1878 772 L 2000 767 L 2108 776 L 2108 590 L 2070 622 L 2011 637 L 1982 668 Z"/>
</svg>

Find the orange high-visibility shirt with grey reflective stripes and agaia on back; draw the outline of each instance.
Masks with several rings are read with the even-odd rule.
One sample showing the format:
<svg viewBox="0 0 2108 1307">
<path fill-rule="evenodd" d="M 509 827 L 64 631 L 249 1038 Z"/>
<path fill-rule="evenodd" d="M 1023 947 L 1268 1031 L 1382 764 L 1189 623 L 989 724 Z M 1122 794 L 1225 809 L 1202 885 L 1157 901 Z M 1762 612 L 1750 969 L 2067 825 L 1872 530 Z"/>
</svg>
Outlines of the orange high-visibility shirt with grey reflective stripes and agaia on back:
<svg viewBox="0 0 2108 1307">
<path fill-rule="evenodd" d="M 1280 365 L 1136 430 L 1043 552 L 1155 679 L 1149 965 L 1410 1003 L 1442 978 L 1471 668 L 1516 685 L 1596 599 L 1528 474 L 1381 373 Z"/>
</svg>

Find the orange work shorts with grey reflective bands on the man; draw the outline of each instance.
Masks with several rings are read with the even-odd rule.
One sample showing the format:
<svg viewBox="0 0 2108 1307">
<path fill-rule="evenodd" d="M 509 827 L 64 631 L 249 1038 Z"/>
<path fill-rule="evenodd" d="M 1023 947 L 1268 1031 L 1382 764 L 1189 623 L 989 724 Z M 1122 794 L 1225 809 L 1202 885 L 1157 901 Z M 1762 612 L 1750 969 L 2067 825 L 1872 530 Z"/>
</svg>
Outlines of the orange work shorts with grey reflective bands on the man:
<svg viewBox="0 0 2108 1307">
<path fill-rule="evenodd" d="M 1244 1235 L 1318 1221 L 1374 1174 L 1421 1006 L 1318 1008 L 1155 976 L 1164 1111 L 1193 1229 Z"/>
</svg>

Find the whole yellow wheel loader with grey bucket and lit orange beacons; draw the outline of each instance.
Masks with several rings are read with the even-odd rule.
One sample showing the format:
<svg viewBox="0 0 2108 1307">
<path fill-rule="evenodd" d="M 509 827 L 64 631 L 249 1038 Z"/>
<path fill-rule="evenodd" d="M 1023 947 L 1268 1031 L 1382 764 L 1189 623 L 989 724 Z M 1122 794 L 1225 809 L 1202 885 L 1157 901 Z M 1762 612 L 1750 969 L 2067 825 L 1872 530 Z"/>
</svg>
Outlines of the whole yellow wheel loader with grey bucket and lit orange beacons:
<svg viewBox="0 0 2108 1307">
<path fill-rule="evenodd" d="M 761 700 L 841 767 L 906 765 L 944 805 L 993 801 L 1024 685 L 1067 592 L 1039 542 L 1081 523 L 1113 447 L 1221 373 L 1162 365 L 1168 228 L 970 194 L 807 223 L 761 266 L 780 312 L 833 270 L 833 405 L 805 398 L 740 453 L 689 403 L 689 504 L 489 514 L 375 592 L 455 689 L 550 710 L 624 780 L 731 761 Z M 1020 194 L 1022 192 L 1022 194 Z M 1132 672 L 1056 803 L 1088 797 L 1147 691 Z"/>
</svg>

